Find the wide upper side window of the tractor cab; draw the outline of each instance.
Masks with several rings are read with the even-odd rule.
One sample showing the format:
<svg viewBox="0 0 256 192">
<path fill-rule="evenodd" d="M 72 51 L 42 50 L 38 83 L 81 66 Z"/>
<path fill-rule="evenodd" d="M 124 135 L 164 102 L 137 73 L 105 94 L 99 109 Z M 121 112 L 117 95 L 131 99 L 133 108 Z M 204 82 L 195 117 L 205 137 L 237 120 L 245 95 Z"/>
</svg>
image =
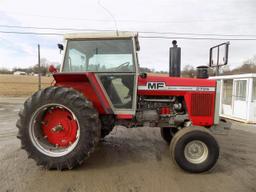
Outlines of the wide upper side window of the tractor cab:
<svg viewBox="0 0 256 192">
<path fill-rule="evenodd" d="M 69 40 L 63 72 L 135 72 L 132 39 Z"/>
</svg>

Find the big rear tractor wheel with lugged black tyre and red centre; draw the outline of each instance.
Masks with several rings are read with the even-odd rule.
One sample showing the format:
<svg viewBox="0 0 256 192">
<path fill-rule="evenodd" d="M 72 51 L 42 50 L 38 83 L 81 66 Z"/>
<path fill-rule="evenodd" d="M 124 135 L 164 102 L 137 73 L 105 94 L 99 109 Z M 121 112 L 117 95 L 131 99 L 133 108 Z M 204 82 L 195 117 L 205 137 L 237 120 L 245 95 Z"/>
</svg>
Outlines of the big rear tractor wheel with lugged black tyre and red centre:
<svg viewBox="0 0 256 192">
<path fill-rule="evenodd" d="M 33 94 L 16 126 L 21 148 L 47 169 L 81 165 L 100 138 L 98 112 L 72 88 L 48 87 Z"/>
</svg>

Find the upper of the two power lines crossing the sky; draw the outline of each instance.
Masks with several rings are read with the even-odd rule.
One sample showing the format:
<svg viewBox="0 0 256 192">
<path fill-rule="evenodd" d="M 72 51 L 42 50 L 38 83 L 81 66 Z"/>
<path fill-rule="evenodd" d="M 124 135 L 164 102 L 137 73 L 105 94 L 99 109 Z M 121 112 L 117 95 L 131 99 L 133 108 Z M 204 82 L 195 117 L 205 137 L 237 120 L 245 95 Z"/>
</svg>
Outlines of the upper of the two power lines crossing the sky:
<svg viewBox="0 0 256 192">
<path fill-rule="evenodd" d="M 39 29 L 39 30 L 56 30 L 56 31 L 113 31 L 110 29 L 82 29 L 82 28 L 56 28 L 56 27 L 34 27 L 34 26 L 18 26 L 18 25 L 0 25 L 2 28 L 17 28 L 17 29 Z M 216 33 L 185 33 L 185 32 L 157 32 L 157 31 L 138 31 L 145 34 L 159 34 L 159 35 L 196 35 L 196 36 L 225 36 L 225 37 L 256 37 L 250 34 L 216 34 Z"/>
</svg>

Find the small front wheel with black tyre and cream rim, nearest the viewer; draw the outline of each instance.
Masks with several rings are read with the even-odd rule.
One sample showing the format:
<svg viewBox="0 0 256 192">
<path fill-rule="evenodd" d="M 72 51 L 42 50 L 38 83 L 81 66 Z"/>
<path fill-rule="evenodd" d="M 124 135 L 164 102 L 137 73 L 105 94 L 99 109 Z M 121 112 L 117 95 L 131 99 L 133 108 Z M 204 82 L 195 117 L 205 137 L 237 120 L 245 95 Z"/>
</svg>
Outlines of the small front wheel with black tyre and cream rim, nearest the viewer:
<svg viewBox="0 0 256 192">
<path fill-rule="evenodd" d="M 186 127 L 178 131 L 170 144 L 173 161 L 183 170 L 201 173 L 214 167 L 219 157 L 219 145 L 203 127 Z"/>
</svg>

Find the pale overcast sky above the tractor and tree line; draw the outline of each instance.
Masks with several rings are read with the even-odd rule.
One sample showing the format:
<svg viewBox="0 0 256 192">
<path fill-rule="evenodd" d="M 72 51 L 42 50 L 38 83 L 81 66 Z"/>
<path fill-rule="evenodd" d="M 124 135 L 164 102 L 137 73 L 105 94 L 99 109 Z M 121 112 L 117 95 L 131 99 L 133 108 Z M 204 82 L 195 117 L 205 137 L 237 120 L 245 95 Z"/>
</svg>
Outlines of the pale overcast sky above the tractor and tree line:
<svg viewBox="0 0 256 192">
<path fill-rule="evenodd" d="M 112 17 L 99 4 L 114 15 L 120 31 L 239 34 L 252 36 L 232 38 L 256 38 L 255 0 L 101 0 L 100 3 L 97 0 L 0 0 L 0 31 L 68 32 L 22 30 L 3 25 L 115 30 Z M 172 40 L 139 40 L 140 65 L 158 71 L 168 70 L 168 50 Z M 56 44 L 62 41 L 62 36 L 0 33 L 0 68 L 36 64 L 38 43 L 41 44 L 42 57 L 60 62 L 61 55 Z M 223 41 L 225 40 L 178 40 L 178 45 L 182 47 L 182 66 L 207 64 L 209 48 Z M 231 40 L 230 43 L 231 68 L 256 55 L 255 40 Z"/>
</svg>

